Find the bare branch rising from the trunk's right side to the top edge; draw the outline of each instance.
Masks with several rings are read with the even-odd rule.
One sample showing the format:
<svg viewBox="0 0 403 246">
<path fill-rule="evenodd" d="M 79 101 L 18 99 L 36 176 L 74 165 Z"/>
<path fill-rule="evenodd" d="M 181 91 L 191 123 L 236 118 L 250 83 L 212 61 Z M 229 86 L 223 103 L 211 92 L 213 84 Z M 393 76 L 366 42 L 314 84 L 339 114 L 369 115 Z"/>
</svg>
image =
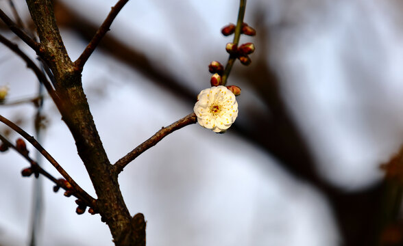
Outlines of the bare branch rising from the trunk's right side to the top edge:
<svg viewBox="0 0 403 246">
<path fill-rule="evenodd" d="M 90 57 L 90 55 L 95 51 L 97 48 L 99 42 L 101 42 L 101 39 L 103 36 L 106 35 L 106 32 L 109 31 L 110 25 L 112 25 L 112 22 L 114 18 L 116 18 L 117 14 L 121 11 L 123 6 L 127 3 L 129 0 L 119 0 L 114 7 L 112 7 L 112 10 L 110 10 L 108 16 L 106 19 L 103 21 L 101 27 L 99 27 L 97 33 L 95 33 L 95 36 L 93 39 L 90 41 L 90 43 L 86 46 L 86 49 L 83 51 L 83 53 L 78 57 L 77 61 L 75 61 L 75 67 L 79 70 L 82 70 L 84 67 L 84 64 Z"/>
</svg>

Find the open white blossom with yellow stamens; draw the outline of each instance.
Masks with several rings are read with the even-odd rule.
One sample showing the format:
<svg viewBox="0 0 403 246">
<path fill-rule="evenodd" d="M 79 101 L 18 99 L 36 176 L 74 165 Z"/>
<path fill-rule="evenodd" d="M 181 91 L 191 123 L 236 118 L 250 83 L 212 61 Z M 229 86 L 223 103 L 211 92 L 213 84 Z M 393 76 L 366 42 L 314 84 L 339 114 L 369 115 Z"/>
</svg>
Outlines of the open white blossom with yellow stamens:
<svg viewBox="0 0 403 246">
<path fill-rule="evenodd" d="M 215 133 L 227 130 L 238 116 L 235 95 L 223 85 L 202 90 L 193 108 L 200 126 Z"/>
</svg>

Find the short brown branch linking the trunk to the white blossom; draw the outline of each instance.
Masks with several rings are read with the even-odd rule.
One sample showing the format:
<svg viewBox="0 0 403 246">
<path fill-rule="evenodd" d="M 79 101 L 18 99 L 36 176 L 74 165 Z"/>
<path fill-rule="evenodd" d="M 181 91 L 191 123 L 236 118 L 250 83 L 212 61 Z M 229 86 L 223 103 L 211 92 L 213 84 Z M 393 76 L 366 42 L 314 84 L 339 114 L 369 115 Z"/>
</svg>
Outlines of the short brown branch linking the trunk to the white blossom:
<svg viewBox="0 0 403 246">
<path fill-rule="evenodd" d="M 158 131 L 156 134 L 154 134 L 152 137 L 141 143 L 141 145 L 137 146 L 132 150 L 131 152 L 127 153 L 125 156 L 123 156 L 119 161 L 114 163 L 113 165 L 113 171 L 119 174 L 120 172 L 123 171 L 123 168 L 127 164 L 129 164 L 131 161 L 136 159 L 137 156 L 145 152 L 145 150 L 148 150 L 152 146 L 155 146 L 159 141 L 161 141 L 165 136 L 169 135 L 170 133 L 173 133 L 173 131 L 179 130 L 180 128 L 187 126 L 189 124 L 195 124 L 197 122 L 197 117 L 195 113 L 191 113 L 186 115 L 184 118 L 178 120 L 177 122 L 174 122 L 170 124 L 167 127 L 162 127 L 160 131 Z"/>
</svg>

